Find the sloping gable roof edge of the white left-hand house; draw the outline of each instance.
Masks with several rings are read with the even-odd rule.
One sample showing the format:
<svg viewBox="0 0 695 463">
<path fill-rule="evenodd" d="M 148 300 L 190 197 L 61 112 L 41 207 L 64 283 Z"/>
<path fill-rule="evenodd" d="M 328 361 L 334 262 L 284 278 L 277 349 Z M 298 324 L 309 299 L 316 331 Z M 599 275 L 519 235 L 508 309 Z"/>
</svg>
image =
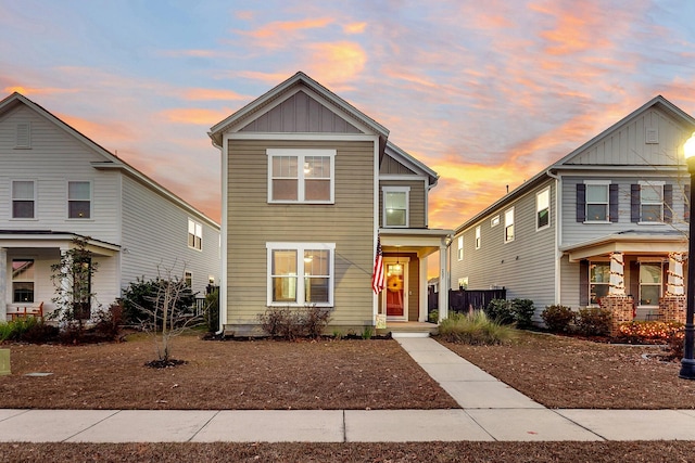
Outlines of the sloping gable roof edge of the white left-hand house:
<svg viewBox="0 0 695 463">
<path fill-rule="evenodd" d="M 190 204 L 188 204 L 187 202 L 185 202 L 184 200 L 181 200 L 180 197 L 178 197 L 177 195 L 175 195 L 174 193 L 172 193 L 170 191 L 168 191 L 167 189 L 165 189 L 164 187 L 162 187 L 161 184 L 159 184 L 157 182 L 155 182 L 144 173 L 140 172 L 135 167 L 127 164 L 125 160 L 121 159 L 115 154 L 111 153 L 109 150 L 101 146 L 99 143 L 91 140 L 89 137 L 79 132 L 77 129 L 70 126 L 68 124 L 66 124 L 65 121 L 63 121 L 62 119 L 53 115 L 51 112 L 49 112 L 41 105 L 35 103 L 34 101 L 29 100 L 28 98 L 24 97 L 23 94 L 18 92 L 14 92 L 9 97 L 7 97 L 5 99 L 3 99 L 2 101 L 0 101 L 0 116 L 2 116 L 5 113 L 9 113 L 10 111 L 14 110 L 20 105 L 25 105 L 29 107 L 41 117 L 54 124 L 60 129 L 67 132 L 70 136 L 74 137 L 76 140 L 85 144 L 88 149 L 90 149 L 94 153 L 98 153 L 101 156 L 103 156 L 104 158 L 103 162 L 91 163 L 92 167 L 94 167 L 96 169 L 122 170 L 126 175 L 135 178 L 136 180 L 138 180 L 139 182 L 148 187 L 150 190 L 153 190 L 154 192 L 161 194 L 162 196 L 173 202 L 174 204 L 178 205 L 182 209 L 204 220 L 210 226 L 216 229 L 219 229 L 219 224 L 217 222 L 215 222 L 213 219 L 211 219 L 210 217 L 207 217 L 206 215 L 198 210 L 195 207 L 191 206 Z"/>
</svg>

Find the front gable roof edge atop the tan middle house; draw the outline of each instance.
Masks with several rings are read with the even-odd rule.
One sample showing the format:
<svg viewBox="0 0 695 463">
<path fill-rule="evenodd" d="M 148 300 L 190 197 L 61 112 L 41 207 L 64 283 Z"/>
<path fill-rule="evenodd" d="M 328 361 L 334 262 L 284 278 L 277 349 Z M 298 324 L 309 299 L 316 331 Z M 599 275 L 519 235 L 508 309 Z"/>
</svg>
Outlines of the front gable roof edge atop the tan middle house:
<svg viewBox="0 0 695 463">
<path fill-rule="evenodd" d="M 380 125 L 379 123 L 377 123 L 376 120 L 374 120 L 372 118 L 370 118 L 369 116 L 367 116 L 366 114 L 357 110 L 352 104 L 348 103 L 342 98 L 338 97 L 336 93 L 331 92 L 326 87 L 321 86 L 316 80 L 312 79 L 301 70 L 294 74 L 289 79 L 279 83 L 275 88 L 270 89 L 263 95 L 253 100 L 251 103 L 247 104 L 241 110 L 237 111 L 226 119 L 214 125 L 210 129 L 210 132 L 207 134 L 213 140 L 215 145 L 222 146 L 223 133 L 226 130 L 235 126 L 239 126 L 240 123 L 247 119 L 250 119 L 253 115 L 255 115 L 256 113 L 260 113 L 266 106 L 274 103 L 276 100 L 285 97 L 288 92 L 293 90 L 295 87 L 302 86 L 302 85 L 308 88 L 309 90 L 312 90 L 313 92 L 315 92 L 326 102 L 328 102 L 331 106 L 340 111 L 343 117 L 358 121 L 362 126 L 366 126 L 369 130 L 378 134 L 381 141 L 380 143 L 381 149 L 383 149 L 383 146 L 386 145 L 386 140 L 389 137 L 389 130 L 386 127 L 383 127 L 382 125 Z"/>
</svg>

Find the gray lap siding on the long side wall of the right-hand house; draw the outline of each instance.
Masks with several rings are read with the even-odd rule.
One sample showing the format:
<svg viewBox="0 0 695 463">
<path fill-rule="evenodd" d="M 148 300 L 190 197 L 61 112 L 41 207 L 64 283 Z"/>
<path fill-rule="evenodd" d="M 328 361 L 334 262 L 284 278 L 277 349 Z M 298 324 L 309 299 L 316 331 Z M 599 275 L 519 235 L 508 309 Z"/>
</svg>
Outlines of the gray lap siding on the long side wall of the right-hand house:
<svg viewBox="0 0 695 463">
<path fill-rule="evenodd" d="M 549 188 L 549 227 L 536 230 L 536 193 Z M 459 278 L 468 278 L 469 290 L 504 286 L 507 299 L 531 299 L 536 319 L 545 306 L 555 301 L 555 181 L 549 180 L 523 196 L 500 207 L 463 231 L 464 258 L 458 260 L 458 236 L 450 247 L 451 287 Z M 514 207 L 515 239 L 504 241 L 505 211 Z M 500 224 L 491 219 L 500 216 Z M 480 226 L 481 246 L 476 249 L 476 227 Z"/>
</svg>

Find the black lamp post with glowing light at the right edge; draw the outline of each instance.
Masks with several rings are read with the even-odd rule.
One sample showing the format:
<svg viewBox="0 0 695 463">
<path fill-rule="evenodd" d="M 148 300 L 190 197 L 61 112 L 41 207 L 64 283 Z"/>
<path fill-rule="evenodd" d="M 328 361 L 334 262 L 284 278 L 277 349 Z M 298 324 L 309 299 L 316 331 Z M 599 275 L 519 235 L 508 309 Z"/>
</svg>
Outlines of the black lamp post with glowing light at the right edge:
<svg viewBox="0 0 695 463">
<path fill-rule="evenodd" d="M 685 141 L 683 154 L 687 163 L 687 172 L 691 176 L 691 191 L 695 191 L 695 132 Z M 695 343 L 695 326 L 693 325 L 693 311 L 695 309 L 695 202 L 690 202 L 690 226 L 687 240 L 687 295 L 685 299 L 685 346 L 681 360 L 679 377 L 695 380 L 695 359 L 693 359 L 693 344 Z"/>
</svg>

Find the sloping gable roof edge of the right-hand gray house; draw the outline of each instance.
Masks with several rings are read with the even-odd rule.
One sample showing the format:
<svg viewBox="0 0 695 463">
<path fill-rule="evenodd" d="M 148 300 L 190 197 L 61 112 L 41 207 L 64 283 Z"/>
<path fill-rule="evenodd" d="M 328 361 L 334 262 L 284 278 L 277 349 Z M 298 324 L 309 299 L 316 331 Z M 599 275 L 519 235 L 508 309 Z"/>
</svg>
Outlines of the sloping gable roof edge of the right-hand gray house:
<svg viewBox="0 0 695 463">
<path fill-rule="evenodd" d="M 551 164 L 545 169 L 541 170 L 540 172 L 531 177 L 531 179 L 525 181 L 519 187 L 514 189 L 511 192 L 502 196 L 500 200 L 495 201 L 490 206 L 485 207 L 480 213 L 476 214 L 473 217 L 463 222 L 460 226 L 456 227 L 456 229 L 454 230 L 454 233 L 455 234 L 460 233 L 463 230 L 468 229 L 476 222 L 479 222 L 482 218 L 491 214 L 493 210 L 498 209 L 500 207 L 503 207 L 505 204 L 510 203 L 511 201 L 515 201 L 516 198 L 526 194 L 530 190 L 536 188 L 539 184 L 546 181 L 547 179 L 554 178 L 554 173 L 552 173 L 554 171 L 557 171 L 560 169 L 572 169 L 572 168 L 586 169 L 585 165 L 572 165 L 571 160 L 578 155 L 582 154 L 586 149 L 589 149 L 591 145 L 593 145 L 601 139 L 606 138 L 612 132 L 619 130 L 628 121 L 640 116 L 641 114 L 645 113 L 646 111 L 648 111 L 654 106 L 658 106 L 661 111 L 664 111 L 665 113 L 673 117 L 677 121 L 695 128 L 694 117 L 685 113 L 683 110 L 681 110 L 680 107 L 678 107 L 677 105 L 674 105 L 673 103 L 665 99 L 664 97 L 657 95 L 652 100 L 649 100 L 648 102 L 646 102 L 645 104 L 643 104 L 642 106 L 640 106 L 637 110 L 633 111 L 632 113 L 628 114 L 626 117 L 618 120 L 612 126 L 608 127 L 606 130 L 603 130 L 601 133 L 598 133 L 591 140 L 589 140 L 587 142 L 583 143 L 581 146 L 577 147 L 576 150 L 572 150 L 569 154 L 567 154 L 559 160 Z"/>
</svg>

